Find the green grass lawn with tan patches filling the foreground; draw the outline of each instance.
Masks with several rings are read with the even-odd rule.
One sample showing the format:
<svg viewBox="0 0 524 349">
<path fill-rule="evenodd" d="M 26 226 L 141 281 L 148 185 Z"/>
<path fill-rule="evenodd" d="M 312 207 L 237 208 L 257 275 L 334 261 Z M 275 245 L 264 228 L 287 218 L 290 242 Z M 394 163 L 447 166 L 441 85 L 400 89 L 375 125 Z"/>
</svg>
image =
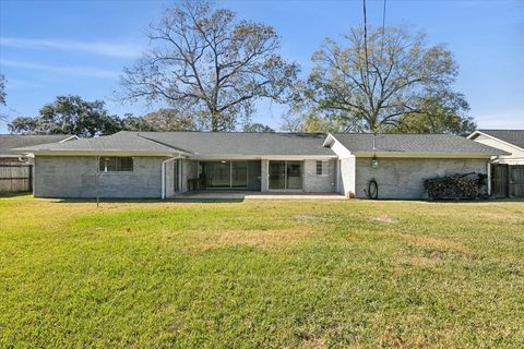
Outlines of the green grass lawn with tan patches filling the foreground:
<svg viewBox="0 0 524 349">
<path fill-rule="evenodd" d="M 522 348 L 524 203 L 0 197 L 0 347 Z"/>
</svg>

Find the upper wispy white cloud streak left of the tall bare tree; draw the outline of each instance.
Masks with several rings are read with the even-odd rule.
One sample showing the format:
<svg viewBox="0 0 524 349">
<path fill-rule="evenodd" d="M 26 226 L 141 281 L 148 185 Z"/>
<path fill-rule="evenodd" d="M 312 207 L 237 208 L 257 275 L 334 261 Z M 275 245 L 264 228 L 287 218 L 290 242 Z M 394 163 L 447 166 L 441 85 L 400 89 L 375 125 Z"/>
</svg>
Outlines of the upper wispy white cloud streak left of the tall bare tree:
<svg viewBox="0 0 524 349">
<path fill-rule="evenodd" d="M 136 58 L 141 49 L 136 45 L 88 43 L 79 40 L 56 40 L 56 39 L 26 39 L 2 37 L 0 45 L 5 47 L 24 49 L 58 49 L 68 51 L 82 51 L 99 56 L 116 58 Z"/>
</svg>

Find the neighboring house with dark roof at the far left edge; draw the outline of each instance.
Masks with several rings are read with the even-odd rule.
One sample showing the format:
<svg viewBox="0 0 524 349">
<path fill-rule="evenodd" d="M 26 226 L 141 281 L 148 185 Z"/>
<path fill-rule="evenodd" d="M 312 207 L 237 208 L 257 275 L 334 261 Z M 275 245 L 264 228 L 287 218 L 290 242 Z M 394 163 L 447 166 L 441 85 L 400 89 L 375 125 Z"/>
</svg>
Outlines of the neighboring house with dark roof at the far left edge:
<svg viewBox="0 0 524 349">
<path fill-rule="evenodd" d="M 49 134 L 49 135 L 22 135 L 0 134 L 0 164 L 33 163 L 33 158 L 24 156 L 23 151 L 16 148 L 35 146 L 46 143 L 66 142 L 76 140 L 74 135 Z"/>
</svg>

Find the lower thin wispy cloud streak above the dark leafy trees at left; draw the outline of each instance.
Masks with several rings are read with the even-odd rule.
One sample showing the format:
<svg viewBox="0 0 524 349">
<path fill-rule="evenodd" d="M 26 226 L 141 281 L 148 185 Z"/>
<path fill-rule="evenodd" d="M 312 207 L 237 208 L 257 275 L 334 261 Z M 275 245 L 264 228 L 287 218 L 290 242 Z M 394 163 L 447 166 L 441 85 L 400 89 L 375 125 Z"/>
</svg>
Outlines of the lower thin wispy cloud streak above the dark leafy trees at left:
<svg viewBox="0 0 524 349">
<path fill-rule="evenodd" d="M 83 77 L 97 77 L 97 79 L 118 79 L 120 72 L 104 70 L 98 68 L 85 67 L 85 65 L 48 65 L 32 62 L 0 60 L 1 65 L 39 70 L 55 74 L 70 75 L 70 76 L 83 76 Z"/>
</svg>

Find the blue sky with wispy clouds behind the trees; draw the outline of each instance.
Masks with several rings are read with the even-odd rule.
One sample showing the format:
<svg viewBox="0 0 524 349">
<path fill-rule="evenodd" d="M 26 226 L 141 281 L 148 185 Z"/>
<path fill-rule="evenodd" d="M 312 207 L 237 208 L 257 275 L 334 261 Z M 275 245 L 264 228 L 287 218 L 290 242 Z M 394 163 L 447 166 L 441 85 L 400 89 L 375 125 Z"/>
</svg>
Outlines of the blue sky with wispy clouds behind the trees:
<svg viewBox="0 0 524 349">
<path fill-rule="evenodd" d="M 37 116 L 60 95 L 103 99 L 110 113 L 143 115 L 143 103 L 115 98 L 119 75 L 148 46 L 145 32 L 176 1 L 0 1 L 0 73 L 10 119 Z M 342 40 L 362 24 L 362 1 L 216 1 L 239 19 L 272 25 L 281 53 L 301 65 L 326 37 Z M 370 25 L 381 25 L 383 0 L 368 0 Z M 524 0 L 386 1 L 386 25 L 422 29 L 445 44 L 460 65 L 454 89 L 465 94 L 479 128 L 524 129 Z M 261 101 L 253 121 L 277 129 L 283 106 Z M 0 122 L 0 133 L 7 132 Z"/>
</svg>

